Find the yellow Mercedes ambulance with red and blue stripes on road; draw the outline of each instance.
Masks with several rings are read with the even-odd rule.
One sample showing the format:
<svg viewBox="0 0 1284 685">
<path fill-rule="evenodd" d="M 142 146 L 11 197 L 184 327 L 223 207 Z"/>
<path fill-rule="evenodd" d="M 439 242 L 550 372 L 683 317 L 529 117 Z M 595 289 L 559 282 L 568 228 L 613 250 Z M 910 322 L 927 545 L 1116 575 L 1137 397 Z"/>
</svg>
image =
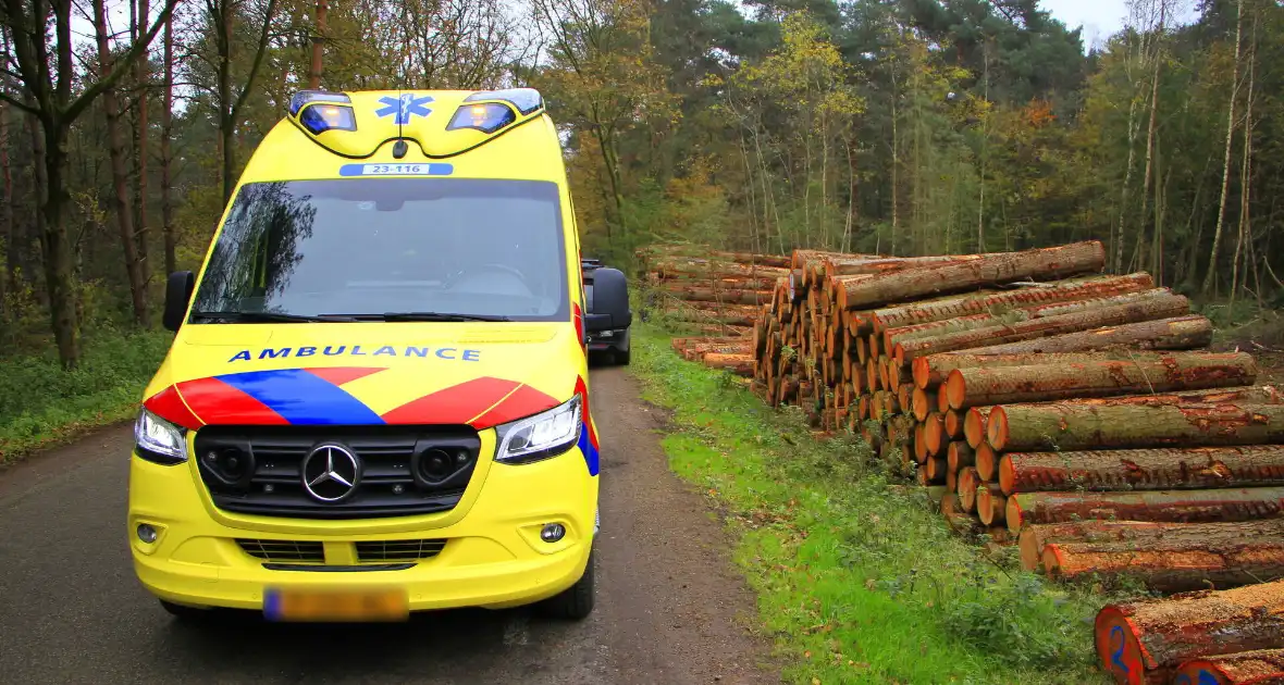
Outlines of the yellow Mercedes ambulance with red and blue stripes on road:
<svg viewBox="0 0 1284 685">
<path fill-rule="evenodd" d="M 628 316 L 624 275 L 594 282 L 592 310 Z M 139 580 L 182 618 L 583 618 L 588 305 L 538 91 L 299 92 L 199 272 L 167 282 L 130 457 Z"/>
</svg>

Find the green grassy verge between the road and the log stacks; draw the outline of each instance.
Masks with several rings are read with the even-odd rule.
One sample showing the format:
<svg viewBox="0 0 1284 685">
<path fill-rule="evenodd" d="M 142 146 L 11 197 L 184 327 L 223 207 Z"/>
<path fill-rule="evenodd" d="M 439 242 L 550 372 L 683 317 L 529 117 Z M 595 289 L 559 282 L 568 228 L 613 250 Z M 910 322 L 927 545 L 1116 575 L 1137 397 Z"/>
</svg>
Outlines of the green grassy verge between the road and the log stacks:
<svg viewBox="0 0 1284 685">
<path fill-rule="evenodd" d="M 926 493 L 859 440 L 818 440 L 634 326 L 633 372 L 673 412 L 664 449 L 740 537 L 763 626 L 796 682 L 1104 682 L 1104 602 L 1045 585 L 951 535 Z"/>
</svg>

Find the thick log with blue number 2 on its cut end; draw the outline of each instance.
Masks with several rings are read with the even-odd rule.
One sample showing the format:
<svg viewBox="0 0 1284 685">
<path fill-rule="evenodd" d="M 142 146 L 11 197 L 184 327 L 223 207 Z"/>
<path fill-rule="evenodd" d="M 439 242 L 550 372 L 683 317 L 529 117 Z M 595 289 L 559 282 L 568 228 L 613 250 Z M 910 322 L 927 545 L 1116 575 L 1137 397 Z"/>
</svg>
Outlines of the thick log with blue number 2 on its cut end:
<svg viewBox="0 0 1284 685">
<path fill-rule="evenodd" d="M 1279 647 L 1284 581 L 1107 604 L 1093 632 L 1117 682 L 1167 684 L 1188 659 Z"/>
</svg>

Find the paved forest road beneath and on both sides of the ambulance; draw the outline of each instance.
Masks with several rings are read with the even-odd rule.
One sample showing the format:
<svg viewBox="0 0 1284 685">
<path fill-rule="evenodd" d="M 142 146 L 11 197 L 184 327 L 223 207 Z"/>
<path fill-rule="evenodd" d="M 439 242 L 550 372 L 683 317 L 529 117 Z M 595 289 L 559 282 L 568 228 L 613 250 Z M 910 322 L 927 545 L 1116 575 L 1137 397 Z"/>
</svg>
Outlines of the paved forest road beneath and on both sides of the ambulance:
<svg viewBox="0 0 1284 685">
<path fill-rule="evenodd" d="M 597 608 L 446 612 L 393 626 L 173 623 L 125 541 L 128 427 L 0 475 L 0 681 L 750 684 L 752 596 L 697 494 L 669 473 L 655 410 L 620 369 L 594 371 L 602 439 Z"/>
</svg>

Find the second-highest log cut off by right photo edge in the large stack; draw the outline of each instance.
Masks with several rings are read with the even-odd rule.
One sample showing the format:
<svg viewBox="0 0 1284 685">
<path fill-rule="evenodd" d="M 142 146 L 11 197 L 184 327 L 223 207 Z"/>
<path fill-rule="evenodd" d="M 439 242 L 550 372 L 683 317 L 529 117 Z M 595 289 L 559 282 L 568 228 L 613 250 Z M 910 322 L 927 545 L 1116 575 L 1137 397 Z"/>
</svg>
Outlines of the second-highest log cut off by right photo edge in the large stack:
<svg viewBox="0 0 1284 685">
<path fill-rule="evenodd" d="M 1005 495 L 1263 485 L 1284 485 L 1284 445 L 1013 452 L 999 462 L 999 486 Z"/>
</svg>

